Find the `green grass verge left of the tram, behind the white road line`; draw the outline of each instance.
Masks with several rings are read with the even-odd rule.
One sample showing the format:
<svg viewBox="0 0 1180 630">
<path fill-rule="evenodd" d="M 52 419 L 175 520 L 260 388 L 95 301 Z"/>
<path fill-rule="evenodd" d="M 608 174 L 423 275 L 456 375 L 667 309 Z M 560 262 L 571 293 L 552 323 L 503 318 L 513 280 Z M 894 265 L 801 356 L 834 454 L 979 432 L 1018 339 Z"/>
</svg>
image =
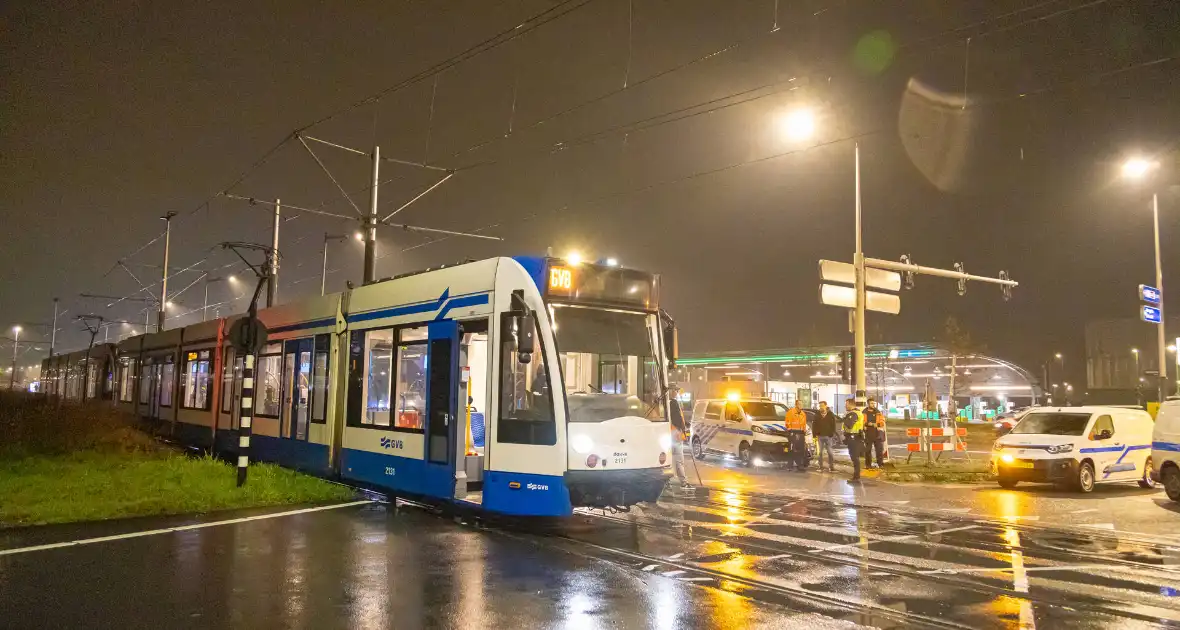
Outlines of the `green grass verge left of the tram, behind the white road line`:
<svg viewBox="0 0 1180 630">
<path fill-rule="evenodd" d="M 270 464 L 245 486 L 212 458 L 80 452 L 0 459 L 0 527 L 345 500 L 352 491 Z"/>
</svg>

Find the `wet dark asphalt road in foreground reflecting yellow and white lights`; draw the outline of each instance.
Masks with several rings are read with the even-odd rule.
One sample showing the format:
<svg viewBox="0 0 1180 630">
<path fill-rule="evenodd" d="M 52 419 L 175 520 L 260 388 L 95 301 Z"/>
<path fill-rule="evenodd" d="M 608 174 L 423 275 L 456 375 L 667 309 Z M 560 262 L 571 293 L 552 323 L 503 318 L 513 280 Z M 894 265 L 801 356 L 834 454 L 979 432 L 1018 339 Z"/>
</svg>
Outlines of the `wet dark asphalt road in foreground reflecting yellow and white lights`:
<svg viewBox="0 0 1180 630">
<path fill-rule="evenodd" d="M 365 504 L 0 532 L 0 626 L 1180 625 L 1180 545 L 1161 537 L 775 496 L 736 487 L 762 471 L 714 472 L 733 485 L 560 521 Z"/>
</svg>

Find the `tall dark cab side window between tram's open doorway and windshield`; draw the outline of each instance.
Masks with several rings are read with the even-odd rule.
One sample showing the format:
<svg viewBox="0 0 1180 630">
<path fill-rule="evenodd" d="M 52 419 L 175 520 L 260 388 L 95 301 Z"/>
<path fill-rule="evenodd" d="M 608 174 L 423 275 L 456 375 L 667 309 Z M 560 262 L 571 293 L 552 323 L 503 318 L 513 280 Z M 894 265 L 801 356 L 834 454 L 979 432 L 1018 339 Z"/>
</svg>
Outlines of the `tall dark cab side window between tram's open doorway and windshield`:
<svg viewBox="0 0 1180 630">
<path fill-rule="evenodd" d="M 505 313 L 500 319 L 500 403 L 497 440 L 506 444 L 557 444 L 553 396 L 545 368 L 545 344 L 540 330 L 532 361 L 517 360 L 517 319 Z"/>
</svg>

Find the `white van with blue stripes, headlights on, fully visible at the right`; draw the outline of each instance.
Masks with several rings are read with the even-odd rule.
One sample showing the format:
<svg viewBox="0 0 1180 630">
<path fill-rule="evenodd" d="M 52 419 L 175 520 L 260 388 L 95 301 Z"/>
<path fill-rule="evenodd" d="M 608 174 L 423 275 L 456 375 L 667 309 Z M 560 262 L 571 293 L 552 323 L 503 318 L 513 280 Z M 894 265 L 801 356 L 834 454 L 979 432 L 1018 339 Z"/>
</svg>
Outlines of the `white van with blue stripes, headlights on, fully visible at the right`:
<svg viewBox="0 0 1180 630">
<path fill-rule="evenodd" d="M 1152 416 L 1127 407 L 1038 407 L 991 447 L 1001 487 L 1055 483 L 1082 492 L 1106 481 L 1155 487 Z"/>
</svg>

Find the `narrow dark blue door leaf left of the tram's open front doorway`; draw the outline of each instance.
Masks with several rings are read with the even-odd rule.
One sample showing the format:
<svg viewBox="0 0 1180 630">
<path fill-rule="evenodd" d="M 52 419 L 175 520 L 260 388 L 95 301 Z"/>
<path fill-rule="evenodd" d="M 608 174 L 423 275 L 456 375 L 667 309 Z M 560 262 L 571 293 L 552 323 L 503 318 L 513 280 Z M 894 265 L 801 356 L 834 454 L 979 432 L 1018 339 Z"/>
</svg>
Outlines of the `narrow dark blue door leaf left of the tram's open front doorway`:
<svg viewBox="0 0 1180 630">
<path fill-rule="evenodd" d="M 459 324 L 431 322 L 426 355 L 426 467 L 431 490 L 454 493 L 454 444 L 459 420 Z"/>
</svg>

